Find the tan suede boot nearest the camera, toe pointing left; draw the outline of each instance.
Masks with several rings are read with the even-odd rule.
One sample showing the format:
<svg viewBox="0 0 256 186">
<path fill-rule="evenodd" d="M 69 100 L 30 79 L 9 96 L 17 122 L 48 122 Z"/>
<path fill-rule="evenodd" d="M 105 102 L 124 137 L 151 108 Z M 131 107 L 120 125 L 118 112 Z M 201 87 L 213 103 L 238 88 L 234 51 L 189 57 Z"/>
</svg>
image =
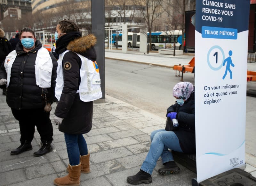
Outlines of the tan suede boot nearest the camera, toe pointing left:
<svg viewBox="0 0 256 186">
<path fill-rule="evenodd" d="M 72 185 L 72 186 L 79 186 L 80 185 L 80 175 L 81 175 L 81 163 L 79 165 L 71 166 L 68 164 L 68 175 L 56 178 L 53 183 L 57 186 L 64 186 L 64 185 Z"/>
</svg>

